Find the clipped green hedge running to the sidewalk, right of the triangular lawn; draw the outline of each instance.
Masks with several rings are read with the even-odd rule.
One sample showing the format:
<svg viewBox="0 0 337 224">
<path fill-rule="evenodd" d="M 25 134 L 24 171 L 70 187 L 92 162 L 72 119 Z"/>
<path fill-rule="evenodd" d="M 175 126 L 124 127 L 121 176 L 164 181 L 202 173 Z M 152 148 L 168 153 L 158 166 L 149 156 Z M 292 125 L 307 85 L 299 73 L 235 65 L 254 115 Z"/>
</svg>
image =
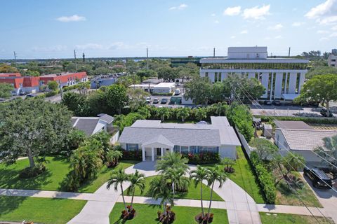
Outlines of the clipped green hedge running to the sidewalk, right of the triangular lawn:
<svg viewBox="0 0 337 224">
<path fill-rule="evenodd" d="M 253 165 L 256 172 L 256 176 L 258 176 L 258 181 L 260 182 L 263 193 L 265 194 L 265 202 L 268 204 L 275 204 L 276 188 L 272 174 L 265 169 L 263 162 L 258 158 L 256 152 L 251 153 L 250 160 L 251 165 Z"/>
</svg>

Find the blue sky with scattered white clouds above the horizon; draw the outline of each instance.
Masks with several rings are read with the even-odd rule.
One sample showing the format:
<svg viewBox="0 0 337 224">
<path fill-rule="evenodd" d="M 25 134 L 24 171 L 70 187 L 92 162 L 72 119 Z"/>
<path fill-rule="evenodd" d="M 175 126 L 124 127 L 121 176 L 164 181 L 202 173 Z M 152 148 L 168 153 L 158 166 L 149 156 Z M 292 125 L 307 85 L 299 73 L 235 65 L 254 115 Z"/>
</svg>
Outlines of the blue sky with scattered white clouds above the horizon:
<svg viewBox="0 0 337 224">
<path fill-rule="evenodd" d="M 291 55 L 337 47 L 337 0 L 1 1 L 0 59 L 227 55 L 266 45 Z"/>
</svg>

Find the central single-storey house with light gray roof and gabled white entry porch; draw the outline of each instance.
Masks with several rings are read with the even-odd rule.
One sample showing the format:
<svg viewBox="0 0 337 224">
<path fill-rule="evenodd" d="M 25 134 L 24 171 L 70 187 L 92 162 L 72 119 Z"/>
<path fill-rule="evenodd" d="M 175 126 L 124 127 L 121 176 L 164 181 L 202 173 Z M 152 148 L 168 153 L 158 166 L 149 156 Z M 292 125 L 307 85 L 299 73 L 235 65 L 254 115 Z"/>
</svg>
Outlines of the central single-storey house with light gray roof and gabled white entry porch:
<svg viewBox="0 0 337 224">
<path fill-rule="evenodd" d="M 119 143 L 126 151 L 142 151 L 143 161 L 157 160 L 166 152 L 219 153 L 221 158 L 236 159 L 241 146 L 226 117 L 211 117 L 211 125 L 161 123 L 136 120 L 125 127 Z"/>
</svg>

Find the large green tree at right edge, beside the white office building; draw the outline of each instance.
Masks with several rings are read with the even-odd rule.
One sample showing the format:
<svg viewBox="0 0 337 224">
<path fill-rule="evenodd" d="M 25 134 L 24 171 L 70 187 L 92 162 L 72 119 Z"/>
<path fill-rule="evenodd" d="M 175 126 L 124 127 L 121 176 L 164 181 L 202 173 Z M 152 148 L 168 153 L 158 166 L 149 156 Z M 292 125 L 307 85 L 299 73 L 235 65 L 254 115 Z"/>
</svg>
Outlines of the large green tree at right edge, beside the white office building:
<svg viewBox="0 0 337 224">
<path fill-rule="evenodd" d="M 298 102 L 317 101 L 326 106 L 327 116 L 330 115 L 330 102 L 337 100 L 337 76 L 324 74 L 314 76 L 303 85 Z"/>
</svg>

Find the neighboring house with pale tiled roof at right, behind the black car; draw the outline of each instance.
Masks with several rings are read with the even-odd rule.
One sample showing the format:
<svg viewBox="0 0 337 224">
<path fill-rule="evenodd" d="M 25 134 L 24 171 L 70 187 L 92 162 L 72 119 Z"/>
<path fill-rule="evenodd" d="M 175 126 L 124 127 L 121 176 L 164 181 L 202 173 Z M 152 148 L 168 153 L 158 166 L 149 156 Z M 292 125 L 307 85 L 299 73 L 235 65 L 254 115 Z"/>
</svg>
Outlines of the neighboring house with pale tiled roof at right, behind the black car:
<svg viewBox="0 0 337 224">
<path fill-rule="evenodd" d="M 275 121 L 280 123 L 280 121 Z M 306 162 L 319 164 L 320 158 L 315 152 L 317 146 L 323 146 L 324 137 L 333 137 L 337 131 L 333 130 L 315 130 L 301 121 L 288 121 L 279 124 L 275 130 L 275 144 L 279 147 L 282 154 L 298 153 L 303 155 Z"/>
</svg>

